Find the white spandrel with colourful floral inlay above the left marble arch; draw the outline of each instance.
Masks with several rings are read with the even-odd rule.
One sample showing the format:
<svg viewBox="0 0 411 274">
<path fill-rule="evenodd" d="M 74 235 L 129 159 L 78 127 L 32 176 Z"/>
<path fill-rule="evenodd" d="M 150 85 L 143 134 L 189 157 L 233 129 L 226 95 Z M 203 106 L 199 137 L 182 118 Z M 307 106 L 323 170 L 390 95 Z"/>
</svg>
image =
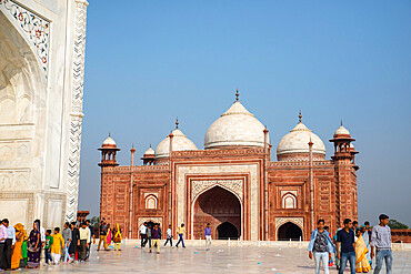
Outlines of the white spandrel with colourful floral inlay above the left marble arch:
<svg viewBox="0 0 411 274">
<path fill-rule="evenodd" d="M 44 77 L 48 75 L 50 22 L 12 0 L 0 0 L 0 10 L 9 12 L 14 18 L 14 24 L 20 26 L 27 40 L 31 41 L 40 60 Z"/>
</svg>

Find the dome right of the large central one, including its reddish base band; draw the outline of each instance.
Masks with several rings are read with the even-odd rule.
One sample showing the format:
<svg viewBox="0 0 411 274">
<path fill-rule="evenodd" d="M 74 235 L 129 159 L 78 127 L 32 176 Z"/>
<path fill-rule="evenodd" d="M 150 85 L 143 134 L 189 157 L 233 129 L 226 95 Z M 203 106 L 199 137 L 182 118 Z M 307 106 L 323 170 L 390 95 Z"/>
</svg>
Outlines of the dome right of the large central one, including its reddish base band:
<svg viewBox="0 0 411 274">
<path fill-rule="evenodd" d="M 325 146 L 321 139 L 311 132 L 301 121 L 284 135 L 277 146 L 279 161 L 307 160 L 310 153 L 309 142 L 313 143 L 312 154 L 314 160 L 325 159 Z"/>
</svg>

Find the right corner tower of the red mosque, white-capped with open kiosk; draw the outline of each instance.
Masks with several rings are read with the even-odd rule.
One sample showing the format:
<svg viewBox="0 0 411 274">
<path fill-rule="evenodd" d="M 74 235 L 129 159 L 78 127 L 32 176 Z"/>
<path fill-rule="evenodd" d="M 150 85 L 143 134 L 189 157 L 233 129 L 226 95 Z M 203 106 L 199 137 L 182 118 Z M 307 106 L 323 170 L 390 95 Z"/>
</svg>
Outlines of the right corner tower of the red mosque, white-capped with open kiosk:
<svg viewBox="0 0 411 274">
<path fill-rule="evenodd" d="M 357 170 L 350 132 L 342 125 L 334 132 L 330 142 L 334 143 L 334 155 L 331 156 L 335 171 L 335 217 L 341 226 L 344 219 L 358 220 Z"/>
</svg>

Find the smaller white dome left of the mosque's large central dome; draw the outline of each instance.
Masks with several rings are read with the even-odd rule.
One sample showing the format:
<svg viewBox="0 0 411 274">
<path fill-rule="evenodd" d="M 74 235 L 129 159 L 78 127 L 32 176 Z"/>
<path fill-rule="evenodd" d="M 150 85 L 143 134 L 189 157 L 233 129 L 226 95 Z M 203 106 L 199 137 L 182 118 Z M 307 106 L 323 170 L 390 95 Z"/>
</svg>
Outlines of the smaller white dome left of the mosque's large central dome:
<svg viewBox="0 0 411 274">
<path fill-rule="evenodd" d="M 198 150 L 196 144 L 188 139 L 179 129 L 172 131 L 174 135 L 172 139 L 173 151 L 192 151 Z M 170 136 L 162 140 L 156 148 L 156 159 L 167 158 L 170 155 Z"/>
</svg>

